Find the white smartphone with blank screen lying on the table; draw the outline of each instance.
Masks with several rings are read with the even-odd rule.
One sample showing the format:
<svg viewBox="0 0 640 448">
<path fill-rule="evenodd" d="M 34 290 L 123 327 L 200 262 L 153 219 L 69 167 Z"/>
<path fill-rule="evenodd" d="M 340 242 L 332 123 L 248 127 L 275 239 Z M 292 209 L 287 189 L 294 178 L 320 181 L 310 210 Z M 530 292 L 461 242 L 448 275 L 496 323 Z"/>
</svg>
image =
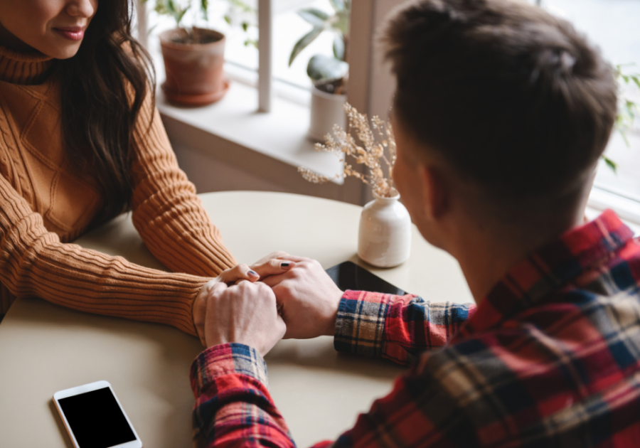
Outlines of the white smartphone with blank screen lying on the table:
<svg viewBox="0 0 640 448">
<path fill-rule="evenodd" d="M 107 381 L 60 390 L 53 401 L 75 448 L 142 448 Z"/>
</svg>

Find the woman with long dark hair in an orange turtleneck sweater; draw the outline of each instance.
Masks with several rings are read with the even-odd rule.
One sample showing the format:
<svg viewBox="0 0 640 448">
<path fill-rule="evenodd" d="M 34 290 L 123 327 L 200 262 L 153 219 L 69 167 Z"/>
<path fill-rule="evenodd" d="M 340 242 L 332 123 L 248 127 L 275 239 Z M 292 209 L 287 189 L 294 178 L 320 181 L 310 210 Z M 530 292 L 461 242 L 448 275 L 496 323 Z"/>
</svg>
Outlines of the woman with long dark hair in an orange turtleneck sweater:
<svg viewBox="0 0 640 448">
<path fill-rule="evenodd" d="M 0 0 L 0 319 L 36 296 L 201 335 L 206 284 L 236 265 L 178 169 L 131 11 L 130 0 Z M 180 273 L 68 243 L 125 210 Z M 224 275 L 257 278 L 245 266 Z"/>
</svg>

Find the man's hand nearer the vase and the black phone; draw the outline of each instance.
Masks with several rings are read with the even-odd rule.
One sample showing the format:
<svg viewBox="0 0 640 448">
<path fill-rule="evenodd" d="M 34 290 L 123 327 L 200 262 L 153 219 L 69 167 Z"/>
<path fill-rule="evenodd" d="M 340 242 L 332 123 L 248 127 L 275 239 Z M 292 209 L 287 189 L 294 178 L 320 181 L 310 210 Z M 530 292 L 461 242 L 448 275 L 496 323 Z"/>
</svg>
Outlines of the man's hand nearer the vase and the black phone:
<svg viewBox="0 0 640 448">
<path fill-rule="evenodd" d="M 316 260 L 292 255 L 277 260 L 296 264 L 284 274 L 262 280 L 273 288 L 280 315 L 287 324 L 284 338 L 334 336 L 343 292 Z"/>
</svg>

